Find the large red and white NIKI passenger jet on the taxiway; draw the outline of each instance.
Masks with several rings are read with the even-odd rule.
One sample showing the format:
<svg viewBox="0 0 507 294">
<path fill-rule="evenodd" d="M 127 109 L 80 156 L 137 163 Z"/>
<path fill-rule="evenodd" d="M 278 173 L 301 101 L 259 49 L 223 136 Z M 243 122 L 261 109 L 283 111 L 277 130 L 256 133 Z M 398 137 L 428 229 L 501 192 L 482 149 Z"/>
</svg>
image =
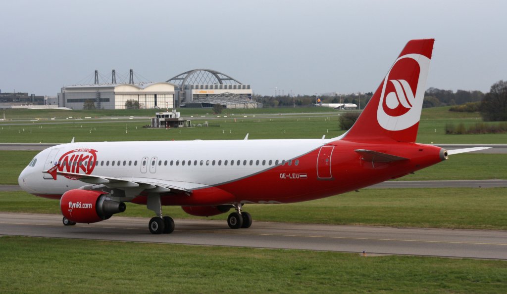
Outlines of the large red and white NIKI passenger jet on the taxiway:
<svg viewBox="0 0 507 294">
<path fill-rule="evenodd" d="M 325 139 L 71 142 L 37 154 L 19 185 L 60 199 L 64 225 L 94 223 L 125 211 L 125 202 L 155 213 L 148 228 L 171 233 L 164 205 L 195 216 L 229 214 L 249 228 L 249 203 L 313 200 L 403 177 L 487 149 L 415 143 L 434 39 L 411 40 L 345 134 Z"/>
</svg>

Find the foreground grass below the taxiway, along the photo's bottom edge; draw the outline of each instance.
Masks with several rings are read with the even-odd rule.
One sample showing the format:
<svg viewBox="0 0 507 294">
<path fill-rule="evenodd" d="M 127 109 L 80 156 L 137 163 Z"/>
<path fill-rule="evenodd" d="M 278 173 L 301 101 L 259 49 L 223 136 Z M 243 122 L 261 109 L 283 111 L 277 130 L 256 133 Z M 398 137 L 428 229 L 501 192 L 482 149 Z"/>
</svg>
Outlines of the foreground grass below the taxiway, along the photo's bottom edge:
<svg viewBox="0 0 507 294">
<path fill-rule="evenodd" d="M 0 237 L 0 292 L 507 291 L 504 261 Z"/>
</svg>

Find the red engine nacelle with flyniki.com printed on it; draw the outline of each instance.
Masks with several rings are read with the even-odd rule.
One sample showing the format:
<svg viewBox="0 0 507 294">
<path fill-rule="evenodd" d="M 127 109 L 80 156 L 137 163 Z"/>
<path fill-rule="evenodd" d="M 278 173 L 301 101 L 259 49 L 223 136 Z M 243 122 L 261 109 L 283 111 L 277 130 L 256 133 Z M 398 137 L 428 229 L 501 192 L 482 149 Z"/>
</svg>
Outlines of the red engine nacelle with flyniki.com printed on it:
<svg viewBox="0 0 507 294">
<path fill-rule="evenodd" d="M 60 198 L 62 214 L 76 223 L 96 223 L 125 211 L 125 203 L 110 200 L 107 193 L 91 190 L 69 190 Z"/>
</svg>

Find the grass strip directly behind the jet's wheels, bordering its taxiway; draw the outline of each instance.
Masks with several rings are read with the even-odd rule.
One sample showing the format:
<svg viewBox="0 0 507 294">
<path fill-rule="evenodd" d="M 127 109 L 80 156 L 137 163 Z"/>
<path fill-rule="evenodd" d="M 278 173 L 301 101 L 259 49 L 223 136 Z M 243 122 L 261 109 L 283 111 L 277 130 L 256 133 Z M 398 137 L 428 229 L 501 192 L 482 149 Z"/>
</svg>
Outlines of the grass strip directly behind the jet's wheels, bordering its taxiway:
<svg viewBox="0 0 507 294">
<path fill-rule="evenodd" d="M 246 204 L 244 209 L 254 221 L 507 230 L 505 199 L 507 188 L 364 189 L 300 203 Z M 0 211 L 60 214 L 58 200 L 23 191 L 0 192 Z M 179 206 L 164 206 L 163 211 L 176 219 L 203 219 Z M 154 213 L 146 205 L 127 203 L 119 216 L 149 218 Z M 227 216 L 209 219 L 226 225 Z"/>
</svg>

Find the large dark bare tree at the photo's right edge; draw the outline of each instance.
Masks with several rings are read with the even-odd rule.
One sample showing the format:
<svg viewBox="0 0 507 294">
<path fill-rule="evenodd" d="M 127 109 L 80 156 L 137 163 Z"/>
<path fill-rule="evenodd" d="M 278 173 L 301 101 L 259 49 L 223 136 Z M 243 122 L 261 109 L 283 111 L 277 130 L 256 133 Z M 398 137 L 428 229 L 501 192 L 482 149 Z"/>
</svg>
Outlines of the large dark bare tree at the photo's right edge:
<svg viewBox="0 0 507 294">
<path fill-rule="evenodd" d="M 507 120 L 507 81 L 495 82 L 481 102 L 481 115 L 486 121 Z"/>
</svg>

